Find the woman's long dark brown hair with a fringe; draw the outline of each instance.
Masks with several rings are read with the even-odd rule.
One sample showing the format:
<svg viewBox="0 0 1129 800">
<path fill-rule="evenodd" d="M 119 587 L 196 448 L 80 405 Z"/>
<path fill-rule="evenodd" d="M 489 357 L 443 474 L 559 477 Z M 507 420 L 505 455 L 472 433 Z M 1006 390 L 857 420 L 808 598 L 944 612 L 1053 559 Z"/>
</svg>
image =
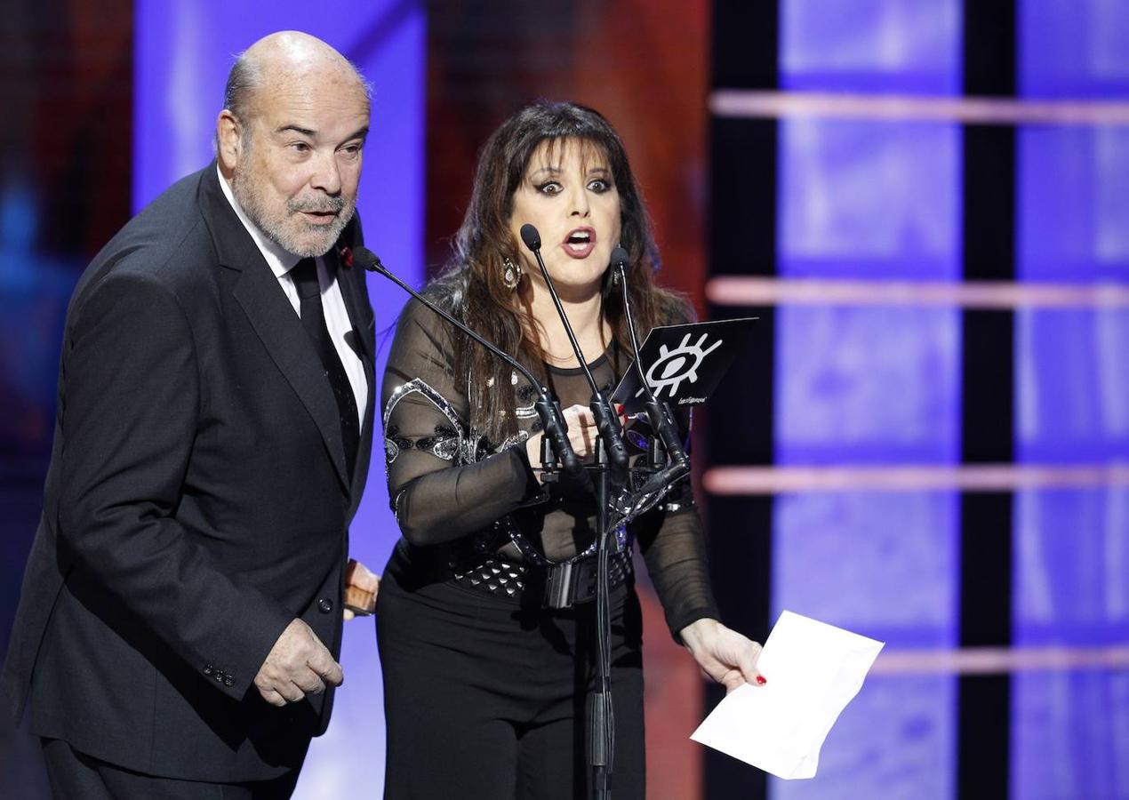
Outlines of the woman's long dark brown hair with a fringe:
<svg viewBox="0 0 1129 800">
<path fill-rule="evenodd" d="M 691 316 L 682 296 L 655 284 L 659 261 L 650 217 L 623 142 L 607 120 L 574 103 L 539 102 L 526 106 L 506 120 L 483 146 L 471 204 L 455 237 L 454 253 L 428 293 L 499 348 L 516 354 L 542 378 L 545 353 L 531 334 L 534 320 L 518 292 L 504 283 L 502 272 L 507 258 L 520 263 L 522 244 L 510 231 L 510 216 L 514 193 L 525 177 L 530 159 L 542 142 L 557 146 L 567 140 L 594 146 L 607 159 L 620 195 L 619 244 L 629 256 L 628 287 L 640 336 L 646 336 L 655 325 L 683 322 Z M 610 274 L 610 271 L 604 274 L 603 315 L 620 348 L 629 353 L 623 300 L 619 290 L 612 291 Z M 510 370 L 466 336 L 453 339 L 456 375 L 471 376 L 467 397 L 471 425 L 490 441 L 501 442 L 517 432 Z"/>
</svg>

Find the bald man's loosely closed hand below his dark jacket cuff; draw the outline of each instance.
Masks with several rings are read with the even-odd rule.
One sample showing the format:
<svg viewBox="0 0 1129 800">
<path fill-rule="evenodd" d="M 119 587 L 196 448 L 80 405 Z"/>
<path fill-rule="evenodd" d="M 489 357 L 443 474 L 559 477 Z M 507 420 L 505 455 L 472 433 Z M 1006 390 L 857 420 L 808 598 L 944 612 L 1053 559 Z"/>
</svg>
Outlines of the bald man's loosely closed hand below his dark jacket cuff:
<svg viewBox="0 0 1129 800">
<path fill-rule="evenodd" d="M 325 649 L 309 625 L 294 619 L 255 676 L 255 688 L 271 705 L 297 703 L 308 694 L 320 694 L 325 685 L 340 686 L 344 680 L 341 665 Z"/>
</svg>

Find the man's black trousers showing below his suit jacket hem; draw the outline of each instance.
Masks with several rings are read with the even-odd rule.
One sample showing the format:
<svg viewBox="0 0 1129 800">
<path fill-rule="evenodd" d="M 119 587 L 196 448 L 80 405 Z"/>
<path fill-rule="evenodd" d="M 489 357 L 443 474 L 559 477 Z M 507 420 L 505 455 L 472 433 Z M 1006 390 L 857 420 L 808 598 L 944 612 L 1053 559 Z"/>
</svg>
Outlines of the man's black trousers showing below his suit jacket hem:
<svg viewBox="0 0 1129 800">
<path fill-rule="evenodd" d="M 287 800 L 298 782 L 297 770 L 250 783 L 145 775 L 78 753 L 62 739 L 43 739 L 43 757 L 55 800 Z"/>
</svg>

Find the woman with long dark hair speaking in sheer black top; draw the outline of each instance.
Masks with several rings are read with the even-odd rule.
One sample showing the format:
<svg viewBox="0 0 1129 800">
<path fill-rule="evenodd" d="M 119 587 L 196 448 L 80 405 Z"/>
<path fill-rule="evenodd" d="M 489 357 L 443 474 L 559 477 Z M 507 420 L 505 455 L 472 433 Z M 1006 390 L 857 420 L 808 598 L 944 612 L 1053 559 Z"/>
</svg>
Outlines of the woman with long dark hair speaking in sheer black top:
<svg viewBox="0 0 1129 800">
<path fill-rule="evenodd" d="M 619 135 L 595 111 L 537 103 L 508 118 L 479 158 L 446 272 L 427 294 L 514 353 L 566 407 L 577 455 L 595 452 L 590 388 L 548 287 L 545 265 L 597 384 L 630 366 L 609 258 L 627 249 L 640 333 L 686 322 L 658 288 L 650 220 Z M 384 377 L 388 492 L 403 537 L 377 607 L 387 720 L 386 798 L 575 798 L 590 779 L 585 698 L 594 680 L 590 484 L 542 482 L 534 388 L 418 302 L 401 316 Z M 686 421 L 683 420 L 683 423 Z M 689 482 L 620 531 L 611 556 L 612 792 L 642 798 L 638 543 L 674 638 L 729 688 L 760 682 L 760 645 L 717 622 L 701 519 Z M 568 568 L 561 566 L 569 564 Z M 563 600 L 546 587 L 571 573 Z"/>
</svg>

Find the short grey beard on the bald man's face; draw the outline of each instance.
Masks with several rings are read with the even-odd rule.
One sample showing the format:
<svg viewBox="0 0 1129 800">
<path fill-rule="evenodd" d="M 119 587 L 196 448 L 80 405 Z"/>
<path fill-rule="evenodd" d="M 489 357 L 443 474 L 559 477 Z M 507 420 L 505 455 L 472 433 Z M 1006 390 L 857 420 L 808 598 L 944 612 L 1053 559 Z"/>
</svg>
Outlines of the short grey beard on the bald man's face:
<svg viewBox="0 0 1129 800">
<path fill-rule="evenodd" d="M 255 227 L 263 231 L 266 238 L 288 253 L 294 253 L 303 258 L 325 255 L 333 247 L 357 210 L 356 201 L 345 200 L 341 195 L 323 195 L 321 203 L 288 200 L 285 216 L 281 218 L 272 217 L 263 202 L 262 193 L 257 190 L 256 182 L 247 175 L 248 172 L 236 168 L 231 174 L 231 193 L 239 203 L 239 208 L 255 223 Z M 296 216 L 301 211 L 336 211 L 338 216 L 329 226 L 315 227 Z M 297 225 L 299 230 L 316 238 L 310 241 L 306 236 L 296 235 L 288 230 L 288 225 Z"/>
</svg>

